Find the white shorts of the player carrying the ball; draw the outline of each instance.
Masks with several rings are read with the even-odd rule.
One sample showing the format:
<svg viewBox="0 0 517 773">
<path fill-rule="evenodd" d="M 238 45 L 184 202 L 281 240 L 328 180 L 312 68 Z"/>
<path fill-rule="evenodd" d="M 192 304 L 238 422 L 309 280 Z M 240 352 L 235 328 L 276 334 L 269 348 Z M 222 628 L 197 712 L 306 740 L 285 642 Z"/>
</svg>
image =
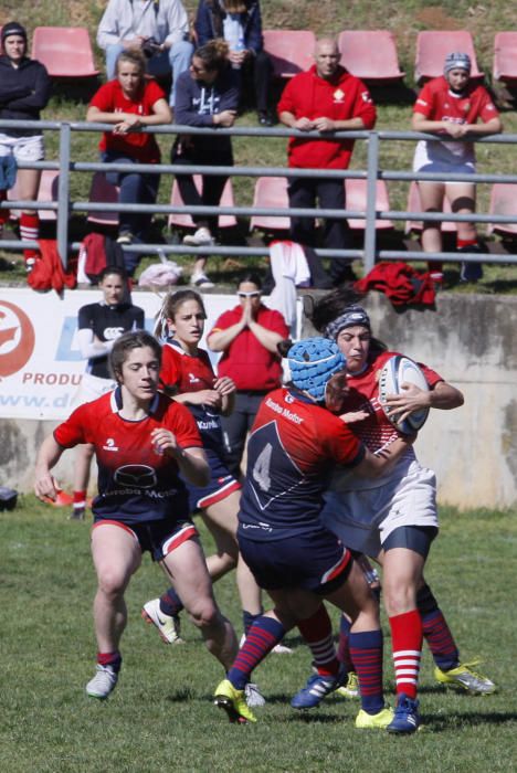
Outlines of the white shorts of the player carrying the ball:
<svg viewBox="0 0 517 773">
<path fill-rule="evenodd" d="M 413 462 L 404 477 L 379 488 L 329 491 L 321 520 L 347 548 L 376 558 L 401 526 L 437 528 L 436 476 Z"/>
</svg>

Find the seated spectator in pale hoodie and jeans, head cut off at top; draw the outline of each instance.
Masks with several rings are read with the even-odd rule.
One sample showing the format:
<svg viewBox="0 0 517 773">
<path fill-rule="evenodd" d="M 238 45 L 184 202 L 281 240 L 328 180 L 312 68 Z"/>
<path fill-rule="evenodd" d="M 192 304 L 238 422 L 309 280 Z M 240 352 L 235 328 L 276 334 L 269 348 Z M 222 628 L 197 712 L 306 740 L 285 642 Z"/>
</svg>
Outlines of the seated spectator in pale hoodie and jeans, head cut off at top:
<svg viewBox="0 0 517 773">
<path fill-rule="evenodd" d="M 109 0 L 97 30 L 97 44 L 106 52 L 108 81 L 123 51 L 141 51 L 151 75 L 172 74 L 170 105 L 175 105 L 178 76 L 188 70 L 193 46 L 181 0 Z"/>
</svg>

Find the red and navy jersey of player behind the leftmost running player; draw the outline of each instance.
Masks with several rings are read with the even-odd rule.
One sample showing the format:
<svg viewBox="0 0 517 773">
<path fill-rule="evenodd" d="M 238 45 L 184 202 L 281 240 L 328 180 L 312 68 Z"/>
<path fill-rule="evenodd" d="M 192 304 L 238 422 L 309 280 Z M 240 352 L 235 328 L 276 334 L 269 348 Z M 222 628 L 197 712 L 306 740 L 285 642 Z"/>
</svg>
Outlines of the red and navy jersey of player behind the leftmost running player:
<svg viewBox="0 0 517 773">
<path fill-rule="evenodd" d="M 192 357 L 176 341 L 163 345 L 160 370 L 160 382 L 163 386 L 172 389 L 176 394 L 184 394 L 213 389 L 214 381 L 212 363 L 203 349 L 198 349 L 196 357 Z M 223 448 L 219 414 L 204 405 L 186 403 L 186 406 L 196 419 L 203 446 L 219 455 Z"/>
</svg>

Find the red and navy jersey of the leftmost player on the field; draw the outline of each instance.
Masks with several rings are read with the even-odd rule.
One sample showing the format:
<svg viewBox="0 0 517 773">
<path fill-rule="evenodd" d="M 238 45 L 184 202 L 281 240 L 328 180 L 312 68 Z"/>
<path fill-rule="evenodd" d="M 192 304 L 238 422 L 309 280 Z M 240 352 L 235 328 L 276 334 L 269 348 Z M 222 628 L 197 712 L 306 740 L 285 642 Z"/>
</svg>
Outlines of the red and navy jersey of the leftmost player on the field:
<svg viewBox="0 0 517 773">
<path fill-rule="evenodd" d="M 134 422 L 120 416 L 122 392 L 113 392 L 85 403 L 54 431 L 56 443 L 73 448 L 92 443 L 98 466 L 98 496 L 95 517 L 127 525 L 157 520 L 184 520 L 188 497 L 175 459 L 158 455 L 151 432 L 167 427 L 182 448 L 202 447 L 196 422 L 189 411 L 165 394 L 157 394 L 149 414 Z"/>
</svg>

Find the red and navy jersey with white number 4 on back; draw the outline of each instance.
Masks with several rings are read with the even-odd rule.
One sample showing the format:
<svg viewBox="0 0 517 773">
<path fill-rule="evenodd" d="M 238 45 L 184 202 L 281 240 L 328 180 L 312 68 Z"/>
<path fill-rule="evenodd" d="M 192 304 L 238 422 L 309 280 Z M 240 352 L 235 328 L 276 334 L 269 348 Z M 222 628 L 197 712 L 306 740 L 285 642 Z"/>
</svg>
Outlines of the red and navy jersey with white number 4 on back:
<svg viewBox="0 0 517 773">
<path fill-rule="evenodd" d="M 363 456 L 360 441 L 329 411 L 292 390 L 271 392 L 247 444 L 239 533 L 267 541 L 320 529 L 334 465 L 355 466 Z"/>
</svg>

